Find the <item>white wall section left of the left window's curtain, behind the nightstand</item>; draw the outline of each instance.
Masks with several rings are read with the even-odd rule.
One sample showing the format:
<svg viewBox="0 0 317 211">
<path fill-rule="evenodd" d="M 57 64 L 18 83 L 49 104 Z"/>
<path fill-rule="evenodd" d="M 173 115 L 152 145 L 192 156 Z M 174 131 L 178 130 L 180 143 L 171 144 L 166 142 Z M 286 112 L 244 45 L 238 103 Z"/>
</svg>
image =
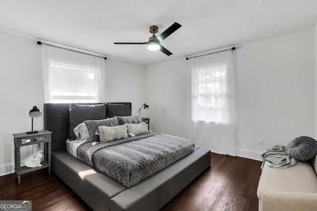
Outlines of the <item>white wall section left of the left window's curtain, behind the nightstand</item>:
<svg viewBox="0 0 317 211">
<path fill-rule="evenodd" d="M 41 48 L 29 38 L 0 32 L 0 175 L 14 169 L 13 133 L 31 130 L 28 116 L 33 105 L 43 109 L 44 91 Z M 43 129 L 43 117 L 34 119 L 34 129 Z M 31 153 L 21 149 L 21 159 Z"/>
</svg>

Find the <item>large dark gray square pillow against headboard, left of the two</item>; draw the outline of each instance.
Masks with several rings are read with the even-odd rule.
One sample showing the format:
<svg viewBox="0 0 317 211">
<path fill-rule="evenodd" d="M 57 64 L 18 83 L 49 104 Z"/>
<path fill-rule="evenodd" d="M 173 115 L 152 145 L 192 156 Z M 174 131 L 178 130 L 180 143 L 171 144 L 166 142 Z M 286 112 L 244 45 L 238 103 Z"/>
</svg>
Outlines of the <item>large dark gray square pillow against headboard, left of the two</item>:
<svg viewBox="0 0 317 211">
<path fill-rule="evenodd" d="M 75 140 L 74 128 L 85 120 L 106 119 L 106 105 L 79 105 L 70 103 L 69 105 L 69 140 Z"/>
</svg>

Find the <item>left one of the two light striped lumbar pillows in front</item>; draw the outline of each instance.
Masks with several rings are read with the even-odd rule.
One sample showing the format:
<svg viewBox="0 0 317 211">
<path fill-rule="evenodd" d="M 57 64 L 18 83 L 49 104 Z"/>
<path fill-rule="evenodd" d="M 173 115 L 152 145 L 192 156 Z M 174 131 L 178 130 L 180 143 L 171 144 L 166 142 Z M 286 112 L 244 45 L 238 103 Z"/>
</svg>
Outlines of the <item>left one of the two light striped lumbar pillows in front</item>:
<svg viewBox="0 0 317 211">
<path fill-rule="evenodd" d="M 96 131 L 96 135 L 99 135 L 100 142 L 115 141 L 128 137 L 126 126 L 99 126 Z"/>
</svg>

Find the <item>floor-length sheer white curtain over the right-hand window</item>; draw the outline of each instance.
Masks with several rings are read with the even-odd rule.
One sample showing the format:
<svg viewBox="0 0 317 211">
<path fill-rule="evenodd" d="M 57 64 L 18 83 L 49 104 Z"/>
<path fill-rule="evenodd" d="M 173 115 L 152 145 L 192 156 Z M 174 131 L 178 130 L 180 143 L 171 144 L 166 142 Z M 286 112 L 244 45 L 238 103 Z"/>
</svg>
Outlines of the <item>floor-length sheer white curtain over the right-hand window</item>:
<svg viewBox="0 0 317 211">
<path fill-rule="evenodd" d="M 188 66 L 187 138 L 236 155 L 235 64 L 231 49 L 192 57 Z"/>
</svg>

